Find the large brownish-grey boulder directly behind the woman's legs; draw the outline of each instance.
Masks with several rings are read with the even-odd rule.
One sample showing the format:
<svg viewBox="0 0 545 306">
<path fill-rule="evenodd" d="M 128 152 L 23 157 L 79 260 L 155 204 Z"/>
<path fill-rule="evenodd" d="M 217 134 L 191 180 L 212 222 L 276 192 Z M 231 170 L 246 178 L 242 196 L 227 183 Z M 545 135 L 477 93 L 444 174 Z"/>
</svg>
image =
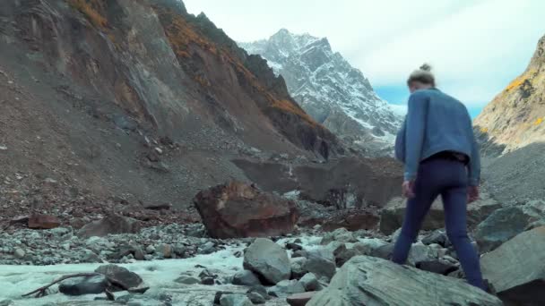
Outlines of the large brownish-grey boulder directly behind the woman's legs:
<svg viewBox="0 0 545 306">
<path fill-rule="evenodd" d="M 406 201 L 402 198 L 394 198 L 386 204 L 380 213 L 379 229 L 383 234 L 394 234 L 395 230 L 403 224 L 405 216 Z M 483 199 L 472 202 L 468 205 L 467 223 L 470 228 L 480 224 L 482 220 L 489 217 L 489 214 L 501 208 L 496 200 L 490 199 L 488 195 L 483 195 Z M 436 230 L 445 227 L 445 214 L 443 211 L 443 201 L 438 197 L 424 218 L 422 230 Z"/>
</svg>

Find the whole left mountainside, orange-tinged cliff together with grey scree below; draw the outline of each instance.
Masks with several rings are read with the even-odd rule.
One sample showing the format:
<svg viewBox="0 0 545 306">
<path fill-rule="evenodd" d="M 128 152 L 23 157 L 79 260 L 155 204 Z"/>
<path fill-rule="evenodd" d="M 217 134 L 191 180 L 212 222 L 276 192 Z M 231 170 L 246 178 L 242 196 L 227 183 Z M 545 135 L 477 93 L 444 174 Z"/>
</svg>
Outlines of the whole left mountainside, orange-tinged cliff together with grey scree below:
<svg viewBox="0 0 545 306">
<path fill-rule="evenodd" d="M 183 207 L 246 179 L 233 157 L 343 151 L 264 59 L 177 0 L 1 1 L 0 89 L 4 174 L 130 202 Z"/>
</svg>

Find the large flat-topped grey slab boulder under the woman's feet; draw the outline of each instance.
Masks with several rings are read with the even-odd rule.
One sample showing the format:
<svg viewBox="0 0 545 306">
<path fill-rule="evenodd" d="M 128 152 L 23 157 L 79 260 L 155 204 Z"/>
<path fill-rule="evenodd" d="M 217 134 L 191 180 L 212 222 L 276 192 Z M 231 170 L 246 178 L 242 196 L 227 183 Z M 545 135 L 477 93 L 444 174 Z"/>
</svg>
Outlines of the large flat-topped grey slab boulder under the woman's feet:
<svg viewBox="0 0 545 306">
<path fill-rule="evenodd" d="M 497 297 L 462 280 L 368 256 L 350 259 L 307 306 L 500 306 Z"/>
</svg>

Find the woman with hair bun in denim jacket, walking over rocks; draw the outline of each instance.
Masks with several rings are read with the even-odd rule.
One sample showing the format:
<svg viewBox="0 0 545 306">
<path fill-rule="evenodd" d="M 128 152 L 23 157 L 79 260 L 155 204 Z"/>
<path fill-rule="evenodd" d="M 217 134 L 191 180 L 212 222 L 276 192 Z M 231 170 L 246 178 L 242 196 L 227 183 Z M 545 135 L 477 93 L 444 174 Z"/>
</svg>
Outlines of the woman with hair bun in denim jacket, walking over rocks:
<svg viewBox="0 0 545 306">
<path fill-rule="evenodd" d="M 441 195 L 446 234 L 465 276 L 471 285 L 485 290 L 466 225 L 466 205 L 479 198 L 479 148 L 467 108 L 436 88 L 430 70 L 424 64 L 407 81 L 409 111 L 395 141 L 395 156 L 405 164 L 402 194 L 408 200 L 393 261 L 405 263 L 422 220 Z"/>
</svg>

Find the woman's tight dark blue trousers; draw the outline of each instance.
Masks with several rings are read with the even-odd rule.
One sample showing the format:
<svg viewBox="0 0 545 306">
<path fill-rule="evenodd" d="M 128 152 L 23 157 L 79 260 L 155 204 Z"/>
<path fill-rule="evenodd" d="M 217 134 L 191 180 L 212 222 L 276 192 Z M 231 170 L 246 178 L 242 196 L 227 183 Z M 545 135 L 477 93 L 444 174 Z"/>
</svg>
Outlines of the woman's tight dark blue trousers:
<svg viewBox="0 0 545 306">
<path fill-rule="evenodd" d="M 445 210 L 446 234 L 454 245 L 463 272 L 468 283 L 484 290 L 479 256 L 467 235 L 467 185 L 467 172 L 463 163 L 447 159 L 422 162 L 415 181 L 415 197 L 407 200 L 402 233 L 395 242 L 392 260 L 398 264 L 405 263 L 424 217 L 433 201 L 441 195 Z"/>
</svg>

